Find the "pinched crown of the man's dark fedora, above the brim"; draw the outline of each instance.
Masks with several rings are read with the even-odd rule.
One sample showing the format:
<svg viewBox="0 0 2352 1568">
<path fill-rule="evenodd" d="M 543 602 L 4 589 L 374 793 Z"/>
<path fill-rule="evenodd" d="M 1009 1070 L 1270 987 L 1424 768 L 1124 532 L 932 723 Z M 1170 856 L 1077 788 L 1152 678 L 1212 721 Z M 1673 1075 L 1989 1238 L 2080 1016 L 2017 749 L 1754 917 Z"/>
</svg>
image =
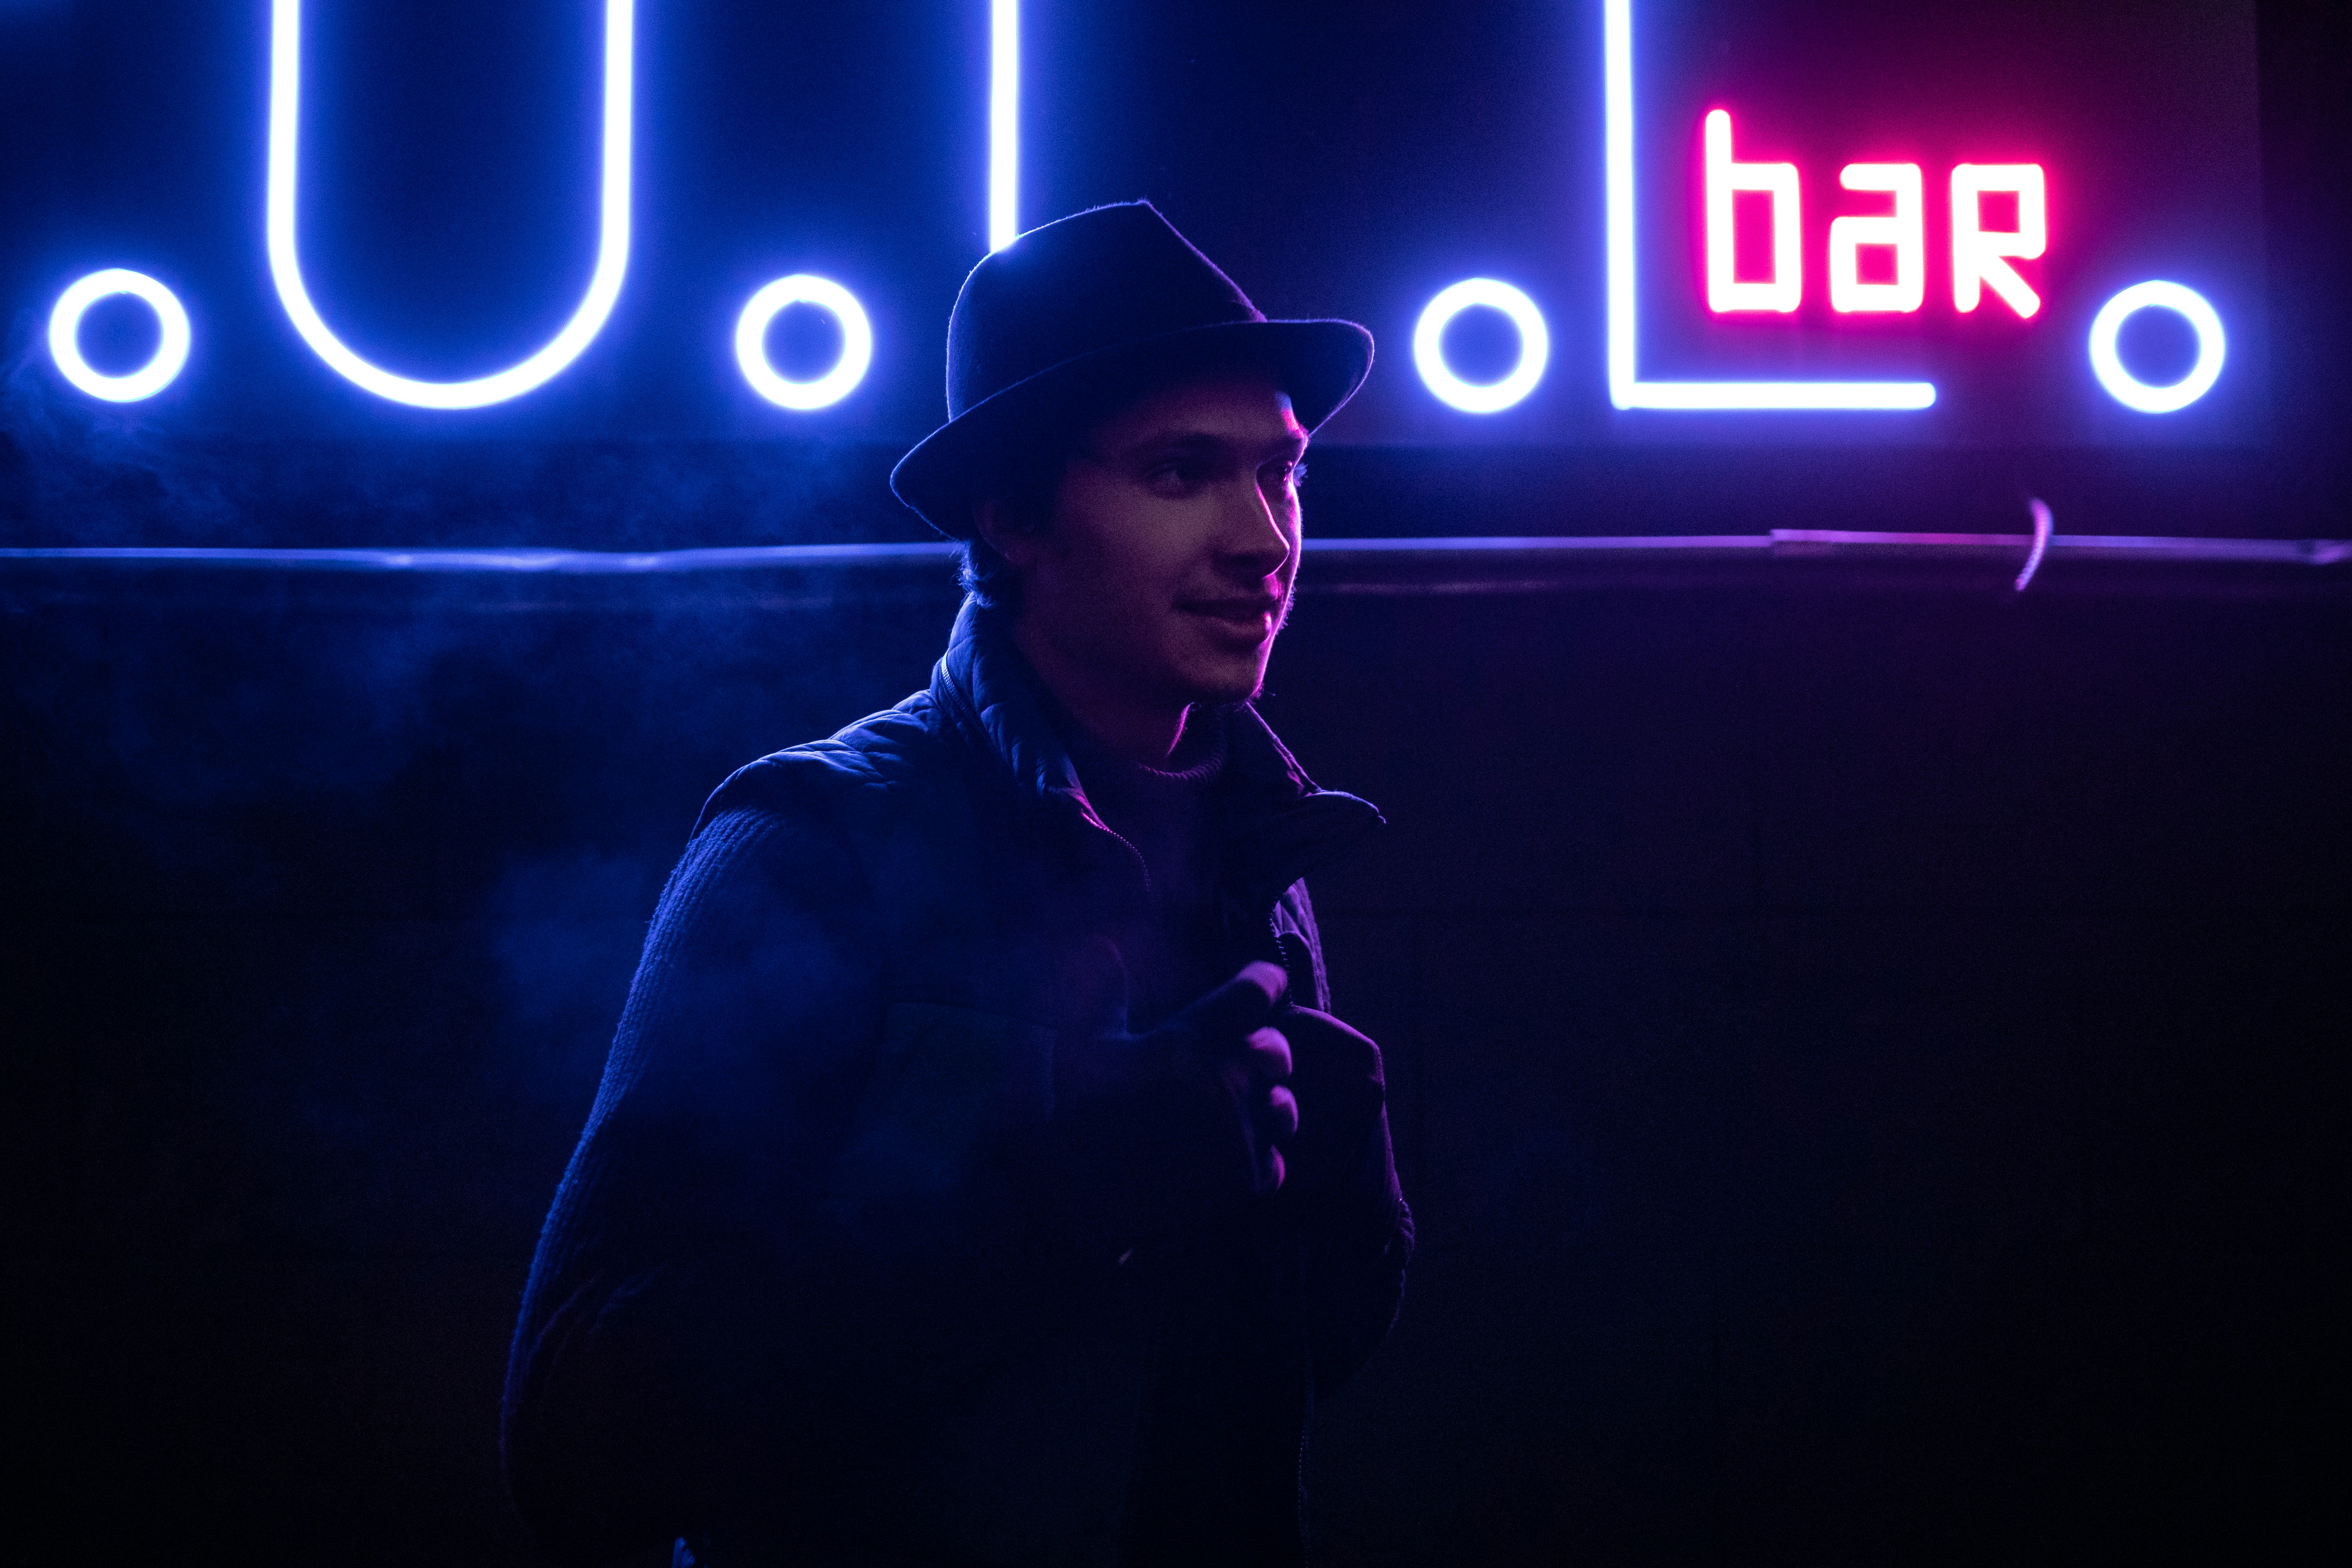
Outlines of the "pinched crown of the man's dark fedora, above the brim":
<svg viewBox="0 0 2352 1568">
<path fill-rule="evenodd" d="M 964 277 L 948 315 L 948 418 L 1103 348 L 1263 320 L 1150 202 L 1091 207 L 1028 230 Z"/>
</svg>

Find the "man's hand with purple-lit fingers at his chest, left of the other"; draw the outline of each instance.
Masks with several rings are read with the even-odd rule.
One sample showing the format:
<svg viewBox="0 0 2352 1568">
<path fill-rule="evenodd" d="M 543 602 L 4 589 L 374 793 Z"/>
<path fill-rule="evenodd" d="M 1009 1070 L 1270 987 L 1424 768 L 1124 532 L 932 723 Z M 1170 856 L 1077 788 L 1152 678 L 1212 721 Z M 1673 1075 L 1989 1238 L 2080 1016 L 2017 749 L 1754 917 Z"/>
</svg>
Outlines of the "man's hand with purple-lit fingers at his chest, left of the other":
<svg viewBox="0 0 2352 1568">
<path fill-rule="evenodd" d="M 1150 1034 L 1127 1034 L 1117 952 L 1101 943 L 1087 964 L 1091 1023 L 1056 1053 L 1051 1145 L 1089 1227 L 1143 1241 L 1275 1192 L 1298 1131 L 1291 1048 L 1270 1025 L 1282 966 L 1247 964 Z"/>
</svg>

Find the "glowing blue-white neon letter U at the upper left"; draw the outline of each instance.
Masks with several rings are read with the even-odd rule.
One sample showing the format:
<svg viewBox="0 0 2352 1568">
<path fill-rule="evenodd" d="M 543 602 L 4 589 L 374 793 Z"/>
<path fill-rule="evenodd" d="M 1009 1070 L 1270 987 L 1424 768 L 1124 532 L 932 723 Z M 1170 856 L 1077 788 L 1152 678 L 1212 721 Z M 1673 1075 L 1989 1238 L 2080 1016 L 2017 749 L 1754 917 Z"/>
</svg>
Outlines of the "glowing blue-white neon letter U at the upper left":
<svg viewBox="0 0 2352 1568">
<path fill-rule="evenodd" d="M 480 409 L 520 397 L 572 364 L 604 329 L 628 275 L 630 99 L 635 0 L 604 0 L 604 158 L 595 275 L 572 320 L 532 357 L 470 381 L 416 381 L 355 355 L 310 303 L 294 244 L 296 158 L 301 153 L 301 0 L 270 7 L 270 169 L 268 252 L 278 299 L 294 331 L 346 381 L 419 409 Z"/>
</svg>

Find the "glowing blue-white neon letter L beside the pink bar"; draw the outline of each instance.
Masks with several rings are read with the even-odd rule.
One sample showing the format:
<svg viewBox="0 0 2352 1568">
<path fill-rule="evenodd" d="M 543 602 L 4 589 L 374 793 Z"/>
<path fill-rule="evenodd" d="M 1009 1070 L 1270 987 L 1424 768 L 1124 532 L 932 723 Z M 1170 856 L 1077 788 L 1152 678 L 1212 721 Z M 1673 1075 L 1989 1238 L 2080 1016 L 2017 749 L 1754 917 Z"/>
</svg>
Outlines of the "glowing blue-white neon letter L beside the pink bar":
<svg viewBox="0 0 2352 1568">
<path fill-rule="evenodd" d="M 1632 0 L 1606 0 L 1609 402 L 1618 409 L 1926 409 L 1931 381 L 1642 381 L 1632 200 Z"/>
</svg>

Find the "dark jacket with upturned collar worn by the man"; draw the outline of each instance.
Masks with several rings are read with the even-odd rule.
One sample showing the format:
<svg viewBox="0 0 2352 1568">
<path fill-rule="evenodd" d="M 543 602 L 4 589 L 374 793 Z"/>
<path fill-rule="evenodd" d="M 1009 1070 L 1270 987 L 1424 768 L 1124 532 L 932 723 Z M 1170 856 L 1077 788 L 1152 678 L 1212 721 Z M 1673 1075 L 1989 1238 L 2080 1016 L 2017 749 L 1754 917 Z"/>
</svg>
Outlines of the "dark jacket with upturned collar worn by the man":
<svg viewBox="0 0 2352 1568">
<path fill-rule="evenodd" d="M 1056 1166 L 1056 1039 L 1101 1027 L 1145 870 L 1044 701 L 967 604 L 927 691 L 703 809 L 515 1331 L 508 1479 L 557 1556 L 1301 1559 L 1312 1401 L 1411 1218 L 1275 1194 L 1134 1246 Z M 1327 1006 L 1301 877 L 1378 816 L 1247 705 L 1216 799 L 1230 961 Z"/>
</svg>

